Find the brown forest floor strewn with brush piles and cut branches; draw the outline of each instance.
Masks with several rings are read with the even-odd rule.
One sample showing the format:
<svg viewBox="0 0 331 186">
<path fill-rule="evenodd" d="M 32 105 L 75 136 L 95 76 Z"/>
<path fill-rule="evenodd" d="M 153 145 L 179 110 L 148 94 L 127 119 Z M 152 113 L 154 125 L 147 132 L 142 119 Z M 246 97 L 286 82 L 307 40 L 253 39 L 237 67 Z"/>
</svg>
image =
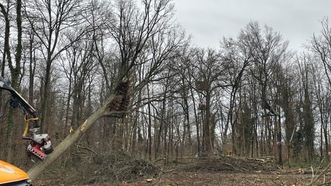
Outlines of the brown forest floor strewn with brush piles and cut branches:
<svg viewBox="0 0 331 186">
<path fill-rule="evenodd" d="M 120 157 L 121 156 L 121 157 Z M 123 157 L 124 156 L 124 157 Z M 160 161 L 160 163 L 162 163 Z M 274 161 L 235 157 L 178 158 L 173 165 L 151 164 L 127 154 L 94 157 L 80 165 L 45 172 L 43 185 L 308 185 L 323 168 L 280 168 Z M 331 185 L 323 173 L 313 185 Z"/>
</svg>

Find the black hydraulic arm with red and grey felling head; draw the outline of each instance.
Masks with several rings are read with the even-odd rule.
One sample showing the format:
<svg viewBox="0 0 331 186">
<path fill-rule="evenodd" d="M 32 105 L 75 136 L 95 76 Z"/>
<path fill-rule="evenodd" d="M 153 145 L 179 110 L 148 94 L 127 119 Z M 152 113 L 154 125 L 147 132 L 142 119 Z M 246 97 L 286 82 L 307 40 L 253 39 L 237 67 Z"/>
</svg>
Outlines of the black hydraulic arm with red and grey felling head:
<svg viewBox="0 0 331 186">
<path fill-rule="evenodd" d="M 37 112 L 34 108 L 23 99 L 23 97 L 16 91 L 9 83 L 0 76 L 0 90 L 7 90 L 12 95 L 12 98 L 6 102 L 6 105 L 3 109 L 3 112 L 6 112 L 6 107 L 8 103 L 14 108 L 21 107 L 21 109 L 25 112 L 24 120 L 26 121 L 26 127 L 23 132 L 22 138 L 29 141 L 26 152 L 28 156 L 36 157 L 37 159 L 43 161 L 46 158 L 46 154 L 50 154 L 53 152 L 52 143 L 50 141 L 50 136 L 48 134 L 36 134 L 40 128 L 39 118 L 37 117 Z M 28 114 L 32 116 L 28 118 Z M 3 114 L 0 114 L 0 117 Z M 33 127 L 29 129 L 29 122 L 33 121 Z M 29 132 L 29 134 L 28 134 Z"/>
</svg>

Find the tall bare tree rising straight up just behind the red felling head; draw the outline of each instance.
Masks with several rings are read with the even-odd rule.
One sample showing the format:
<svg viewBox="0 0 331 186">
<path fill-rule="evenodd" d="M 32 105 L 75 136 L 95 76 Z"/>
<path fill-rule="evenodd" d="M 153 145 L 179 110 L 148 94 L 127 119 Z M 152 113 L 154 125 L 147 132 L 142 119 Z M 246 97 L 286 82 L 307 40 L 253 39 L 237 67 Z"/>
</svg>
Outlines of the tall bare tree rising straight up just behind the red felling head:
<svg viewBox="0 0 331 186">
<path fill-rule="evenodd" d="M 86 32 L 86 27 L 81 26 L 84 22 L 81 14 L 84 10 L 82 1 L 26 1 L 23 10 L 30 27 L 41 43 L 41 56 L 44 63 L 41 63 L 45 70 L 43 74 L 43 100 L 41 105 L 42 117 L 41 126 L 47 128 L 48 117 L 50 116 L 50 90 L 52 64 L 61 52 L 81 39 Z M 74 35 L 67 35 L 68 29 L 81 28 Z M 59 39 L 66 43 L 59 44 Z"/>
</svg>

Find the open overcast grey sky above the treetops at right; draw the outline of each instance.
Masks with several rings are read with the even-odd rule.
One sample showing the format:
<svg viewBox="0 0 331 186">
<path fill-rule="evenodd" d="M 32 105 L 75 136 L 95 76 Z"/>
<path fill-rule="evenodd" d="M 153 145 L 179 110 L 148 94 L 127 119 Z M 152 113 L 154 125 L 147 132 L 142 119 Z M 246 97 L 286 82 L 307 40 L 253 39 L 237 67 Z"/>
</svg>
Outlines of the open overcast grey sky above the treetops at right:
<svg viewBox="0 0 331 186">
<path fill-rule="evenodd" d="M 199 47 L 218 48 L 223 37 L 237 37 L 250 21 L 268 25 L 301 50 L 331 19 L 331 0 L 174 0 L 175 17 Z"/>
</svg>

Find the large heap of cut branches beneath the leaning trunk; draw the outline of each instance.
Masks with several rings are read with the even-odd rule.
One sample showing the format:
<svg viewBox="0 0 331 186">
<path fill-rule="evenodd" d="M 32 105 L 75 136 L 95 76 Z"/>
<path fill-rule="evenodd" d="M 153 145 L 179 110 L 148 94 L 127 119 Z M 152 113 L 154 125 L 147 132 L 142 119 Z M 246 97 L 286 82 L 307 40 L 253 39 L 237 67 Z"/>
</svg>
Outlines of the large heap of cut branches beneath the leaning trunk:
<svg viewBox="0 0 331 186">
<path fill-rule="evenodd" d="M 120 151 L 97 154 L 92 149 L 76 145 L 65 157 L 67 159 L 65 165 L 48 169 L 40 180 L 35 181 L 35 184 L 116 185 L 161 173 L 161 169 L 149 161 Z"/>
</svg>

